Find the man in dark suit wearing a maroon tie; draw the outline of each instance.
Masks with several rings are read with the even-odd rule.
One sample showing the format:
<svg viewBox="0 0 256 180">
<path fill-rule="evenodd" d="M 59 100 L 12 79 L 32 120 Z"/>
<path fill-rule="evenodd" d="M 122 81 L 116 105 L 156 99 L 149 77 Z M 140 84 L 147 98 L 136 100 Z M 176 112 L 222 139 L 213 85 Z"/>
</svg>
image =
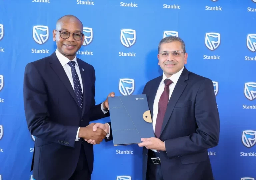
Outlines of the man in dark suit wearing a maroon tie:
<svg viewBox="0 0 256 180">
<path fill-rule="evenodd" d="M 142 138 L 143 180 L 213 180 L 207 149 L 219 141 L 213 83 L 189 72 L 185 43 L 166 37 L 158 46 L 163 75 L 149 81 L 147 95 L 155 136 Z"/>
</svg>

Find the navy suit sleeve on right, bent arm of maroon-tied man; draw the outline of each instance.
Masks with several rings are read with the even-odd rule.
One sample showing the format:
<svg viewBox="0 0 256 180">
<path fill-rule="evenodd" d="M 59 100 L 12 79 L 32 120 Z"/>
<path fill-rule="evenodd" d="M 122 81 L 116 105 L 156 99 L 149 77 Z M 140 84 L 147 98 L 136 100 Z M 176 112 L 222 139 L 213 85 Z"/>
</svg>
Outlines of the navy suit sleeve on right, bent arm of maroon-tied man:
<svg viewBox="0 0 256 180">
<path fill-rule="evenodd" d="M 195 102 L 195 133 L 165 141 L 169 158 L 198 153 L 218 145 L 220 133 L 219 112 L 213 83 L 206 79 L 199 87 Z"/>
</svg>

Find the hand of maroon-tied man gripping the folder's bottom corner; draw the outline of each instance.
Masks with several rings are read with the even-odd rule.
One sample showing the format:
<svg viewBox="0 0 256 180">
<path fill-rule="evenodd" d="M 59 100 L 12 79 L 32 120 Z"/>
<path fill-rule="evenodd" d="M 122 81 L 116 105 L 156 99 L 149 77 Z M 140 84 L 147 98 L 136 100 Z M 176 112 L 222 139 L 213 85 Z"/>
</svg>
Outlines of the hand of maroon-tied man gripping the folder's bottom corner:
<svg viewBox="0 0 256 180">
<path fill-rule="evenodd" d="M 156 137 L 141 138 L 141 143 L 138 144 L 140 147 L 146 147 L 147 149 L 155 149 L 159 151 L 166 151 L 165 143 Z"/>
</svg>

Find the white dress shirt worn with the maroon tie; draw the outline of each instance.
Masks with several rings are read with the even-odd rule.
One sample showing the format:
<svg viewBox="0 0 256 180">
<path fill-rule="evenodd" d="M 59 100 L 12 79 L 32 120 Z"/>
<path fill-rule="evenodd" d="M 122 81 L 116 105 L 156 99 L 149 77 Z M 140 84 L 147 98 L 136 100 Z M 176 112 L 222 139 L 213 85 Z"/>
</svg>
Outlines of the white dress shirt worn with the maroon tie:
<svg viewBox="0 0 256 180">
<path fill-rule="evenodd" d="M 156 92 L 156 96 L 155 96 L 155 100 L 154 100 L 154 104 L 153 104 L 153 118 L 152 118 L 152 121 L 153 121 L 153 129 L 154 129 L 154 132 L 155 132 L 155 127 L 156 127 L 156 117 L 157 117 L 157 114 L 158 114 L 158 103 L 159 103 L 159 100 L 160 100 L 160 97 L 162 95 L 162 93 L 164 92 L 164 80 L 165 79 L 170 79 L 173 83 L 169 86 L 169 90 L 170 90 L 170 94 L 169 94 L 169 99 L 172 95 L 172 92 L 178 82 L 178 79 L 183 71 L 184 67 L 179 71 L 177 72 L 176 74 L 173 74 L 171 77 L 167 78 L 166 75 L 163 73 L 163 79 L 162 81 L 160 82 L 159 84 L 159 87 L 157 89 L 157 92 Z M 152 151 L 155 151 L 157 152 L 155 149 L 151 149 Z"/>
</svg>

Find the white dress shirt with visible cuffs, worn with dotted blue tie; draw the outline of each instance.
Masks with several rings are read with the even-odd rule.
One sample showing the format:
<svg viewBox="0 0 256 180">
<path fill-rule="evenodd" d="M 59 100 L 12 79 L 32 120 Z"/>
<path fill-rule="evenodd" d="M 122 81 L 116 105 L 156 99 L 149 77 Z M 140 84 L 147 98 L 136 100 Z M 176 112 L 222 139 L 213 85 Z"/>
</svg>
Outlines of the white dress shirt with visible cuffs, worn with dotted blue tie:
<svg viewBox="0 0 256 180">
<path fill-rule="evenodd" d="M 70 60 L 69 60 L 67 57 L 65 57 L 64 55 L 62 55 L 62 54 L 58 51 L 58 49 L 56 49 L 55 53 L 56 53 L 56 56 L 57 56 L 57 58 L 59 59 L 61 65 L 62 65 L 64 71 L 66 72 L 66 74 L 67 74 L 67 76 L 68 76 L 68 79 L 69 79 L 69 81 L 70 81 L 70 83 L 71 83 L 73 89 L 74 89 L 74 82 L 73 82 L 71 67 L 68 65 L 68 62 L 70 62 Z M 78 66 L 78 63 L 77 63 L 77 60 L 76 60 L 76 56 L 75 56 L 75 58 L 74 58 L 72 61 L 75 61 L 75 63 L 76 63 L 76 65 L 75 65 L 76 73 L 77 73 L 77 75 L 78 75 L 78 78 L 79 78 L 79 81 L 80 81 L 80 84 L 81 84 L 82 93 L 84 93 L 84 92 L 83 92 L 82 77 L 81 77 L 80 69 L 79 69 L 79 66 Z M 102 112 L 105 113 L 105 114 L 108 112 L 108 111 L 105 111 L 105 110 L 104 110 L 104 108 L 103 108 L 103 103 L 101 103 L 101 110 L 102 110 Z M 109 126 L 109 124 L 108 124 L 108 126 Z M 79 129 L 80 129 L 80 127 L 79 127 L 78 130 L 77 130 L 76 141 L 78 141 L 78 140 L 80 139 L 80 137 L 78 138 Z M 110 126 L 109 126 L 109 133 L 107 134 L 106 137 L 109 138 L 109 136 L 110 136 Z M 87 140 L 89 140 L 89 139 L 87 139 Z"/>
</svg>

